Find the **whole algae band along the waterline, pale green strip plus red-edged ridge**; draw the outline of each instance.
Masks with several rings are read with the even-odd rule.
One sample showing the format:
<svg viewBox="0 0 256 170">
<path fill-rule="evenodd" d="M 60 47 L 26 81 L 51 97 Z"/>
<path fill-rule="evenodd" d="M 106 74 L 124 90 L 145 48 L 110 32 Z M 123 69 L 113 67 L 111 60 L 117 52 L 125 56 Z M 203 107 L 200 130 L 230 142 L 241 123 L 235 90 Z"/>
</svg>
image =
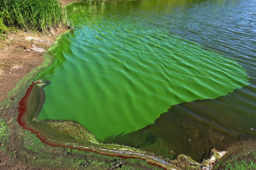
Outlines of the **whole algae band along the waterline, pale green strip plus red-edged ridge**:
<svg viewBox="0 0 256 170">
<path fill-rule="evenodd" d="M 69 6 L 70 4 L 66 5 L 65 7 Z M 30 130 L 32 133 L 37 134 L 37 137 L 43 143 L 50 146 L 69 147 L 70 149 L 92 151 L 94 153 L 116 156 L 120 158 L 142 159 L 163 169 L 201 169 L 201 167 L 210 167 L 211 164 L 214 164 L 216 160 L 225 155 L 225 152 L 212 150 L 212 157 L 208 160 L 204 160 L 201 164 L 183 154 L 178 155 L 175 160 L 168 160 L 162 158 L 161 156 L 156 156 L 151 152 L 146 152 L 136 148 L 117 144 L 99 143 L 96 141 L 93 134 L 91 134 L 77 122 L 38 120 L 37 116 L 41 110 L 45 96 L 42 89 L 44 84 L 41 80 L 37 79 L 42 73 L 42 70 L 51 66 L 55 62 L 53 56 L 51 55 L 51 51 L 58 45 L 58 40 L 60 40 L 67 32 L 69 31 L 66 31 L 58 36 L 54 45 L 47 50 L 47 53 L 44 56 L 45 61 L 42 63 L 42 65 L 36 67 L 30 73 L 26 74 L 26 76 L 23 77 L 22 80 L 17 83 L 16 87 L 6 96 L 5 100 L 0 103 L 0 108 L 3 112 L 3 109 L 15 106 L 15 103 L 10 102 L 10 96 L 17 96 L 17 99 L 19 100 L 24 96 L 25 91 L 27 90 L 26 95 L 19 103 L 20 107 L 18 122 L 23 126 L 23 129 Z M 27 104 L 31 105 L 27 107 Z M 6 124 L 4 120 L 3 124 Z M 0 136 L 1 138 L 8 135 L 6 134 L 6 129 L 8 128 L 7 125 L 4 125 L 4 127 L 4 133 Z"/>
</svg>

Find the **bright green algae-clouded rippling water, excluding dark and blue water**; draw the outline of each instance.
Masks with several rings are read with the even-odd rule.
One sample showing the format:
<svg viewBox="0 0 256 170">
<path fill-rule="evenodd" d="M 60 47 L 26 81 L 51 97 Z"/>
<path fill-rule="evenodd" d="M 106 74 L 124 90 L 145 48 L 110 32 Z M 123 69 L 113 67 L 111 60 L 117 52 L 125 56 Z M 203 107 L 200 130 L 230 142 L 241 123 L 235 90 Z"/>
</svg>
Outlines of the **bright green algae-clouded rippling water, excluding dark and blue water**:
<svg viewBox="0 0 256 170">
<path fill-rule="evenodd" d="M 235 60 L 172 34 L 166 14 L 146 8 L 133 1 L 68 6 L 76 29 L 41 75 L 51 84 L 39 119 L 77 121 L 104 141 L 154 123 L 172 105 L 247 85 Z"/>
</svg>

